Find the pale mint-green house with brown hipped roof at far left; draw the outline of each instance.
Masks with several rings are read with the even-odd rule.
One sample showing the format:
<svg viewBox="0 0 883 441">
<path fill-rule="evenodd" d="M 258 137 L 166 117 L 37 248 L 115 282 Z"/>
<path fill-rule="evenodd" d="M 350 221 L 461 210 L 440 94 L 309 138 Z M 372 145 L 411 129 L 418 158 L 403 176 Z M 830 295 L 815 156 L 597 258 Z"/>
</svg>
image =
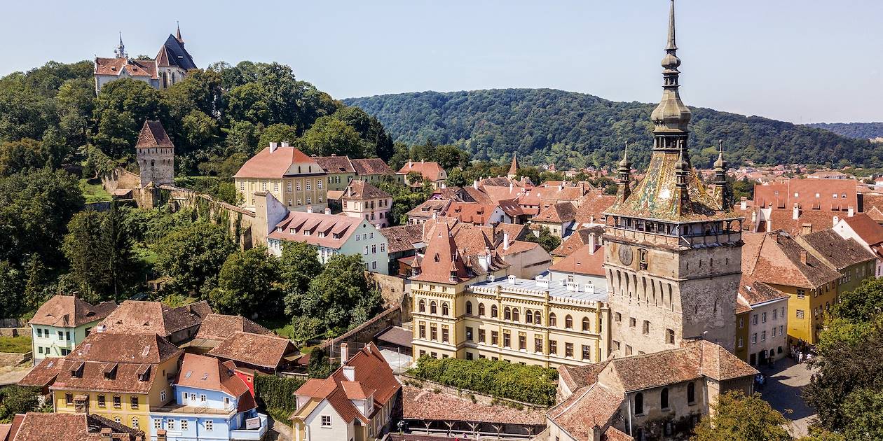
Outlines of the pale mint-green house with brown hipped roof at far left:
<svg viewBox="0 0 883 441">
<path fill-rule="evenodd" d="M 71 353 L 92 328 L 117 308 L 117 303 L 92 305 L 72 295 L 56 295 L 43 303 L 31 325 L 34 365 L 47 357 Z"/>
</svg>

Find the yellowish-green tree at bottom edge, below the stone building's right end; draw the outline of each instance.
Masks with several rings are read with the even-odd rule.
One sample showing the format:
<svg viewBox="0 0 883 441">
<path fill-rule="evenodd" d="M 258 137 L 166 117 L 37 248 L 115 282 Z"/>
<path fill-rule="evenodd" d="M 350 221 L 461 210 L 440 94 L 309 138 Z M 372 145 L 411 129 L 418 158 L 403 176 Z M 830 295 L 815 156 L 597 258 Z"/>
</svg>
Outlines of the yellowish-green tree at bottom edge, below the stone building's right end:
<svg viewBox="0 0 883 441">
<path fill-rule="evenodd" d="M 745 396 L 742 391 L 721 394 L 712 405 L 713 416 L 703 417 L 691 441 L 790 441 L 788 422 L 759 393 Z"/>
</svg>

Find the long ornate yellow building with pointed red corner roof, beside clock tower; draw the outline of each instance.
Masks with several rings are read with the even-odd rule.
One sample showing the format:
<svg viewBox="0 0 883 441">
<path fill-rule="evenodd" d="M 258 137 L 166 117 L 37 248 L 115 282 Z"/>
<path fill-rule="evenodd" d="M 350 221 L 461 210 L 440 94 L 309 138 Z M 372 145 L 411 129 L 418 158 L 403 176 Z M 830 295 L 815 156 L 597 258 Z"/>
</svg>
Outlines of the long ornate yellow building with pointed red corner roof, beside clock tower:
<svg viewBox="0 0 883 441">
<path fill-rule="evenodd" d="M 506 276 L 493 252 L 461 256 L 447 223 L 430 233 L 411 277 L 413 354 L 544 367 L 608 354 L 607 295 L 574 282 Z"/>
</svg>

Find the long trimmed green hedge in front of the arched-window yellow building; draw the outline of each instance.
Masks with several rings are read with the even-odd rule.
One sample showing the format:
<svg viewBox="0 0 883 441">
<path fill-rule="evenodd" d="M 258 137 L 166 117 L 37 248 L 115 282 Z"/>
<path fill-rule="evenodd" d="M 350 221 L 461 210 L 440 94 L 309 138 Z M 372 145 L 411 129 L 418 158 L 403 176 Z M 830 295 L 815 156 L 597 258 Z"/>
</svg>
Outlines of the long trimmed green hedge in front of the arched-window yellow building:
<svg viewBox="0 0 883 441">
<path fill-rule="evenodd" d="M 540 406 L 555 404 L 558 371 L 540 366 L 525 366 L 487 358 L 434 359 L 424 355 L 417 361 L 417 367 L 409 373 L 419 379 L 485 393 L 496 398 Z"/>
</svg>

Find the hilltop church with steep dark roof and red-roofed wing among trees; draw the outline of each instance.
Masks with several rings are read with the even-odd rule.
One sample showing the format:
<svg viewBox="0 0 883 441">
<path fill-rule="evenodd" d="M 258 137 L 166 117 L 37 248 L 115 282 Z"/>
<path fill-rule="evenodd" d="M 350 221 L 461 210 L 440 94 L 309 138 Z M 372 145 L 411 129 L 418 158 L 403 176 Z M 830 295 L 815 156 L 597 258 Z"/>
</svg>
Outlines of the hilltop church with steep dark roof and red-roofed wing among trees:
<svg viewBox="0 0 883 441">
<path fill-rule="evenodd" d="M 187 71 L 196 69 L 193 58 L 184 48 L 181 28 L 170 34 L 154 59 L 130 58 L 125 51 L 123 35 L 120 34 L 113 58 L 95 57 L 95 93 L 110 81 L 119 78 L 133 78 L 144 81 L 155 89 L 165 89 L 187 76 Z"/>
</svg>

